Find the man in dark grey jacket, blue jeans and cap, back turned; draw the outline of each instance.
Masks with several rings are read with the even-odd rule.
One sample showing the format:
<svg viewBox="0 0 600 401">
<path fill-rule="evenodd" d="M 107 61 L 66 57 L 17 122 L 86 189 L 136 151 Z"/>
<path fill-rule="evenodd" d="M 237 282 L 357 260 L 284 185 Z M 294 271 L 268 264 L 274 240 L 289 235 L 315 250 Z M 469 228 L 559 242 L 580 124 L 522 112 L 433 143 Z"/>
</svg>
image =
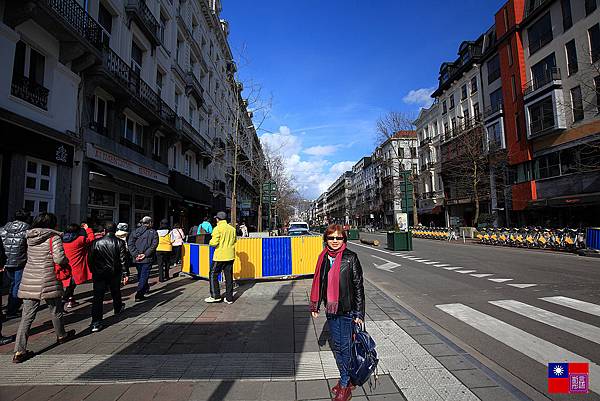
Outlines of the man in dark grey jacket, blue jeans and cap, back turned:
<svg viewBox="0 0 600 401">
<path fill-rule="evenodd" d="M 148 277 L 158 246 L 158 234 L 152 228 L 152 217 L 144 216 L 141 225 L 129 235 L 128 248 L 138 274 L 138 290 L 135 294 L 136 301 L 145 299 L 145 294 L 150 291 Z"/>
</svg>

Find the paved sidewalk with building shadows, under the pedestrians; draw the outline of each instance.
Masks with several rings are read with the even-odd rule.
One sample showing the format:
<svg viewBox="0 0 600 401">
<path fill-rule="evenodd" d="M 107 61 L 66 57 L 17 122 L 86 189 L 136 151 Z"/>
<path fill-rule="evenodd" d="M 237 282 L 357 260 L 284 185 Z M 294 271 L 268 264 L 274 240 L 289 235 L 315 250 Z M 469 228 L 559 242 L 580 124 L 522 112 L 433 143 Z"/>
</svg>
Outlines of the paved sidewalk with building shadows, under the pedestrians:
<svg viewBox="0 0 600 401">
<path fill-rule="evenodd" d="M 326 400 L 338 376 L 324 317 L 308 313 L 310 280 L 242 284 L 233 305 L 207 305 L 208 283 L 187 277 L 158 284 L 107 327 L 89 331 L 91 286 L 66 316 L 77 338 L 55 345 L 48 311 L 33 326 L 29 349 L 11 363 L 0 347 L 0 400 Z M 380 356 L 377 386 L 354 400 L 512 400 L 468 355 L 432 333 L 367 283 L 367 329 Z M 5 323 L 16 332 L 18 319 Z"/>
</svg>

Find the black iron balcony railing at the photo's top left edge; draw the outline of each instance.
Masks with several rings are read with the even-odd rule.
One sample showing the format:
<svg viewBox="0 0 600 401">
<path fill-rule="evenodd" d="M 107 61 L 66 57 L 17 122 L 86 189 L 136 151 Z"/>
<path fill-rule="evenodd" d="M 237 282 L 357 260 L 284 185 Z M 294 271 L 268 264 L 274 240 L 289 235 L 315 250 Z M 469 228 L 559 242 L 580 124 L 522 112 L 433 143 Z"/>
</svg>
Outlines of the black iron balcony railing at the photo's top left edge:
<svg viewBox="0 0 600 401">
<path fill-rule="evenodd" d="M 74 0 L 42 0 L 55 17 L 71 27 L 97 49 L 102 47 L 102 27 Z"/>
</svg>

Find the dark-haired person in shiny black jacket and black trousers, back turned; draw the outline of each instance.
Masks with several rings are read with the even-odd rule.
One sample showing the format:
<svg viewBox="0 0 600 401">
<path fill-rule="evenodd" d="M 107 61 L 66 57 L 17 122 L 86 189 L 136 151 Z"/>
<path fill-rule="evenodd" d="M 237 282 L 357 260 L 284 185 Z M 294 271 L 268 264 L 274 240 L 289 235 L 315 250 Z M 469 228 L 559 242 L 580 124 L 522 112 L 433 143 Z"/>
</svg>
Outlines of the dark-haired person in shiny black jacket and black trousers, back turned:
<svg viewBox="0 0 600 401">
<path fill-rule="evenodd" d="M 92 243 L 89 255 L 92 282 L 94 285 L 94 300 L 92 303 L 92 333 L 102 330 L 102 316 L 104 314 L 104 294 L 110 291 L 113 300 L 113 310 L 118 315 L 125 309 L 121 298 L 121 283 L 129 281 L 129 269 L 125 267 L 127 261 L 127 245 L 125 241 L 116 236 L 115 223 L 104 226 L 105 235 Z"/>
</svg>

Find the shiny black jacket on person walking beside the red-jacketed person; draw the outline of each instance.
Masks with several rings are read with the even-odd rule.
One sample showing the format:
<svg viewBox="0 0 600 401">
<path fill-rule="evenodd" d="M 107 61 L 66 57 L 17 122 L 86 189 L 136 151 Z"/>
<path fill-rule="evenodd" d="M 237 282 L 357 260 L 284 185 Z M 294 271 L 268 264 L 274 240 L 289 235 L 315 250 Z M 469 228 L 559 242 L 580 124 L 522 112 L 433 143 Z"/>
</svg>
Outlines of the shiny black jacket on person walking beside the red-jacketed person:
<svg viewBox="0 0 600 401">
<path fill-rule="evenodd" d="M 88 253 L 88 264 L 94 278 L 129 276 L 126 260 L 125 241 L 117 238 L 114 233 L 94 240 Z"/>
</svg>

